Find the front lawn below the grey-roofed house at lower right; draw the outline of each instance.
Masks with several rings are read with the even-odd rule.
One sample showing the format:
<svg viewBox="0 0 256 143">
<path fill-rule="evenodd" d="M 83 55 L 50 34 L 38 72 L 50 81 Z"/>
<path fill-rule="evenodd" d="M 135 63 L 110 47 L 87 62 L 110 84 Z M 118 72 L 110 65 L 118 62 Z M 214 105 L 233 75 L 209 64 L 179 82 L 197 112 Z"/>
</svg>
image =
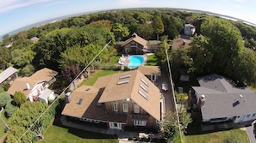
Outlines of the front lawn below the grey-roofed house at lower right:
<svg viewBox="0 0 256 143">
<path fill-rule="evenodd" d="M 240 142 L 249 143 L 247 132 L 240 129 L 214 132 L 209 134 L 185 135 L 185 143 L 222 143 L 228 137 L 238 139 Z"/>
</svg>

